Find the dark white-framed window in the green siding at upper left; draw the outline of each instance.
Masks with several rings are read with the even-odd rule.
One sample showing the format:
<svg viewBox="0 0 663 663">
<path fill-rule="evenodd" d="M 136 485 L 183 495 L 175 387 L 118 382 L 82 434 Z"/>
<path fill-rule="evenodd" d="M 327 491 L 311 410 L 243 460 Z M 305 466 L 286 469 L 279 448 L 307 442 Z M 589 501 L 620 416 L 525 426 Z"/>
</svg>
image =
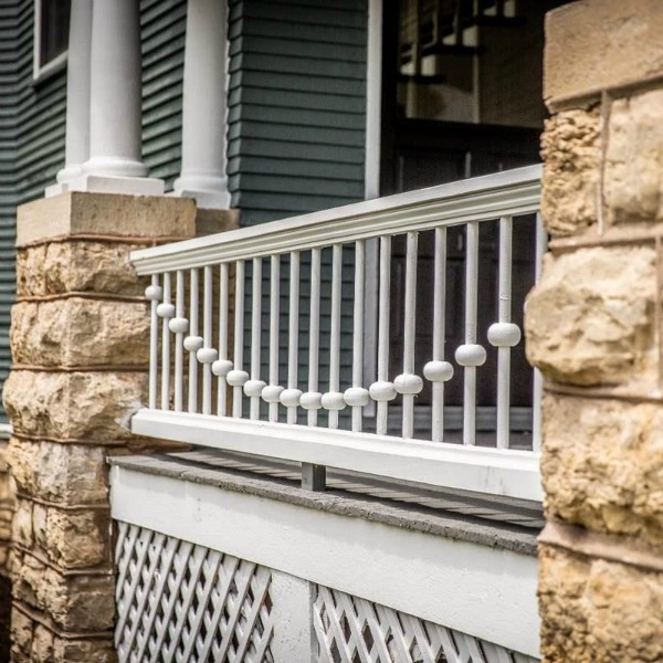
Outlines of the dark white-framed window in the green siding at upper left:
<svg viewBox="0 0 663 663">
<path fill-rule="evenodd" d="M 35 81 L 66 62 L 71 0 L 34 0 Z"/>
</svg>

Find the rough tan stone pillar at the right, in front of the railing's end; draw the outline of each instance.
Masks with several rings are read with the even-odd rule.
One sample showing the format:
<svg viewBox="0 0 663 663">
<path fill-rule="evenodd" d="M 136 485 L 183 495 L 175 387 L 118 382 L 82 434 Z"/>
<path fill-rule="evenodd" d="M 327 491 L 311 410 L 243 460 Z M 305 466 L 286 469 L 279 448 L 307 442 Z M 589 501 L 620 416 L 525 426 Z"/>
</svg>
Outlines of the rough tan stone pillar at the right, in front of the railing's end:
<svg viewBox="0 0 663 663">
<path fill-rule="evenodd" d="M 526 307 L 546 380 L 546 663 L 663 661 L 663 3 L 547 17 L 543 214 Z"/>
</svg>

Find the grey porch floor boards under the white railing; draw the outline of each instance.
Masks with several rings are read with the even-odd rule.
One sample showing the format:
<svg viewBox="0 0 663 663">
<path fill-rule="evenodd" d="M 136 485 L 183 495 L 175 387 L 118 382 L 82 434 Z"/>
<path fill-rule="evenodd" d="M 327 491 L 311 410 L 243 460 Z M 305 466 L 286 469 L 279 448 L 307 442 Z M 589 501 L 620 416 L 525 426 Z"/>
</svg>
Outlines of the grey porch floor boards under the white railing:
<svg viewBox="0 0 663 663">
<path fill-rule="evenodd" d="M 541 505 L 535 502 L 334 470 L 327 471 L 327 490 L 313 493 L 299 487 L 298 463 L 212 449 L 109 462 L 527 555 L 536 555 L 536 537 L 544 526 Z"/>
</svg>

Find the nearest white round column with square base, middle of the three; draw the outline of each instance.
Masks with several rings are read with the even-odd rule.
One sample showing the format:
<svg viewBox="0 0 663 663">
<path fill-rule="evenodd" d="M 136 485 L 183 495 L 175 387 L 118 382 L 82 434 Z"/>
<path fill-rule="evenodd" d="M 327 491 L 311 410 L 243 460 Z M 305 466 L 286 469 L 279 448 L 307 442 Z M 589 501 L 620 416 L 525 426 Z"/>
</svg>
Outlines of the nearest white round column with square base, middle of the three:
<svg viewBox="0 0 663 663">
<path fill-rule="evenodd" d="M 94 0 L 90 160 L 77 190 L 159 194 L 140 158 L 140 24 L 137 0 Z"/>
</svg>

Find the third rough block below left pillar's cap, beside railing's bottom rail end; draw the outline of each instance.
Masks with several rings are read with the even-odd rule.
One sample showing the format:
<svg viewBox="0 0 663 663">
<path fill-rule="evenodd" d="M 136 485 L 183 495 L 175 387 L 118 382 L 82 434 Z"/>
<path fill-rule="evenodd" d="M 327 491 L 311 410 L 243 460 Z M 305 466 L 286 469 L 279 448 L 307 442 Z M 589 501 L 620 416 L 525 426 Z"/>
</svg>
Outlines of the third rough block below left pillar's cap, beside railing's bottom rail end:
<svg viewBox="0 0 663 663">
<path fill-rule="evenodd" d="M 17 433 L 108 442 L 129 436 L 129 419 L 146 388 L 140 372 L 13 370 L 2 397 Z"/>
</svg>

